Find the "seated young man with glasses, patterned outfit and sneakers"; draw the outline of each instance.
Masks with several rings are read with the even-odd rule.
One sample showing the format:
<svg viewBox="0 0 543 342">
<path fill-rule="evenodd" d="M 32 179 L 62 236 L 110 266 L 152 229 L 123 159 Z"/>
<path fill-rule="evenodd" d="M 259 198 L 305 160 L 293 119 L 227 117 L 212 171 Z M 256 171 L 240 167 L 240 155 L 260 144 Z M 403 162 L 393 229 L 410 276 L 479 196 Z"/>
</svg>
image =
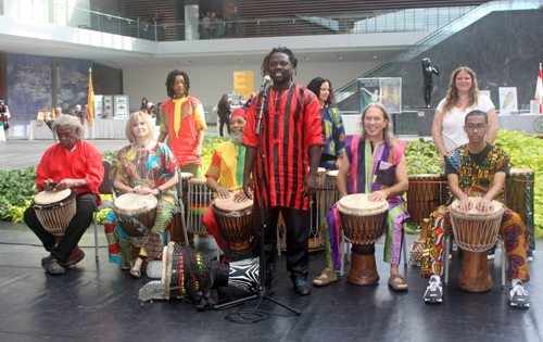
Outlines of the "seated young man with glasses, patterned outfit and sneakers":
<svg viewBox="0 0 543 342">
<path fill-rule="evenodd" d="M 484 141 L 489 131 L 487 113 L 472 111 L 466 115 L 464 130 L 469 142 L 445 155 L 445 174 L 452 192 L 451 199 L 430 216 L 430 231 L 426 240 L 422 276 L 430 276 L 425 302 L 442 302 L 441 276 L 443 275 L 443 241 L 452 233 L 449 206 L 454 199 L 459 201 L 459 211 L 466 212 L 472 203 L 468 197 L 482 197 L 476 204 L 481 213 L 491 210 L 491 201 L 504 203 L 503 186 L 509 173 L 509 156 L 498 147 Z M 500 232 L 505 241 L 510 280 L 509 301 L 512 306 L 528 307 L 528 292 L 522 281 L 530 280 L 527 251 L 529 233 L 518 214 L 504 207 Z"/>
</svg>

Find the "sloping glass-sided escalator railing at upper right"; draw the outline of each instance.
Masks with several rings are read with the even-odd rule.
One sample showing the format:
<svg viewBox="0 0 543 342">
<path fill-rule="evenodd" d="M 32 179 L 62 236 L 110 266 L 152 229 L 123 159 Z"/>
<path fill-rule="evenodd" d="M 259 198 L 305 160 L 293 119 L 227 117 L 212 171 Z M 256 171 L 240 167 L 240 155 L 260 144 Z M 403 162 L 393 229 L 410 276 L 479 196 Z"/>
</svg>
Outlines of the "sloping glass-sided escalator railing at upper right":
<svg viewBox="0 0 543 342">
<path fill-rule="evenodd" d="M 543 7 L 543 0 L 507 0 L 507 1 L 492 1 L 480 7 L 477 7 L 466 15 L 463 15 L 455 20 L 454 22 L 443 26 L 441 29 L 434 31 L 427 38 L 420 40 L 416 45 L 406 49 L 404 52 L 392 58 L 391 60 L 378 65 L 374 69 L 361 75 L 353 81 L 346 84 L 334 92 L 336 101 L 338 105 L 340 102 L 346 100 L 352 96 L 356 96 L 358 92 L 357 79 L 358 78 L 369 78 L 369 77 L 384 77 L 392 69 L 396 68 L 399 65 L 413 60 L 415 56 L 427 51 L 428 49 L 434 47 L 441 41 L 447 39 L 465 27 L 477 22 L 481 17 L 488 15 L 494 11 L 516 11 L 516 10 L 533 10 Z M 341 109 L 341 106 L 340 106 Z"/>
</svg>

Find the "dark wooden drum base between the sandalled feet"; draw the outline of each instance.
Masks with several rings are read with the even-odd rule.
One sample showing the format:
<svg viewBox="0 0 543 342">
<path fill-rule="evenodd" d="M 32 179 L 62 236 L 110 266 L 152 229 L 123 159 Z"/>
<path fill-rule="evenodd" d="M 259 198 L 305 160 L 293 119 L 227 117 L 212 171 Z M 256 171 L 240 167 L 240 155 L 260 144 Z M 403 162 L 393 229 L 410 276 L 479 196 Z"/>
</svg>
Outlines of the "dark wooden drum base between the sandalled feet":
<svg viewBox="0 0 543 342">
<path fill-rule="evenodd" d="M 379 281 L 372 244 L 353 244 L 351 269 L 346 280 L 354 284 L 374 284 Z"/>
</svg>

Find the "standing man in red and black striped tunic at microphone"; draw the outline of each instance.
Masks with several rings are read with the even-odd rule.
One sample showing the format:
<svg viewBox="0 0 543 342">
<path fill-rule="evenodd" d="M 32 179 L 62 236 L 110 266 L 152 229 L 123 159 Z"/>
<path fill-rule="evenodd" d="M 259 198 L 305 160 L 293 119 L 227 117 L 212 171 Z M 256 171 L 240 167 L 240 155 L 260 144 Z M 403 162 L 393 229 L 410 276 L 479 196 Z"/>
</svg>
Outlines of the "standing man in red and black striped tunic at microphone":
<svg viewBox="0 0 543 342">
<path fill-rule="evenodd" d="M 308 203 L 315 192 L 325 139 L 317 97 L 292 83 L 292 72 L 295 72 L 296 66 L 294 54 L 283 47 L 274 48 L 264 59 L 262 76 L 269 75 L 273 86 L 266 90 L 267 97 L 256 97 L 248 115 L 243 135 L 243 144 L 247 147 L 243 190 L 252 199 L 254 187 L 256 194 L 255 252 L 260 251 L 260 243 L 264 243 L 266 287 L 269 287 L 274 277 L 277 221 L 281 213 L 287 225 L 287 270 L 290 271 L 294 291 L 307 295 L 311 294 L 306 282 L 310 266 Z M 261 105 L 264 105 L 261 131 L 264 169 L 261 168 L 261 161 L 257 161 L 260 141 L 255 131 Z M 255 186 L 251 179 L 253 168 Z M 261 199 L 264 200 L 264 239 L 260 237 Z"/>
</svg>

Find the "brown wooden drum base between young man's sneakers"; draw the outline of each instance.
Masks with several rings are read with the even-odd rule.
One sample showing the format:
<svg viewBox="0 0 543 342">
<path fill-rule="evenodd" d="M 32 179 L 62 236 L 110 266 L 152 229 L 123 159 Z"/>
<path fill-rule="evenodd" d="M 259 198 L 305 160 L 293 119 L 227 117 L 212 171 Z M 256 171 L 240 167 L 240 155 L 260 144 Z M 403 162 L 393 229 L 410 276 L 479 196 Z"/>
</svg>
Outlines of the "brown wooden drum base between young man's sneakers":
<svg viewBox="0 0 543 342">
<path fill-rule="evenodd" d="M 494 284 L 490 277 L 487 252 L 464 251 L 458 288 L 467 292 L 485 292 Z"/>
</svg>

